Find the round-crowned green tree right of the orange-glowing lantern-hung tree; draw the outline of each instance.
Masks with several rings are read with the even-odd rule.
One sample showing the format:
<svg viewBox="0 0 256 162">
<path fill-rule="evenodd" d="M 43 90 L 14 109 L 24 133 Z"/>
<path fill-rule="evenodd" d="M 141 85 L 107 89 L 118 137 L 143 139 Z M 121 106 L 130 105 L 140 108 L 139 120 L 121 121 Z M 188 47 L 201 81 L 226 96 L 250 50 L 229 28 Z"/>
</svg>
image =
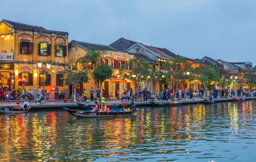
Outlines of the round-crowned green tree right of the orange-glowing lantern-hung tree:
<svg viewBox="0 0 256 162">
<path fill-rule="evenodd" d="M 199 81 L 204 84 L 204 98 L 206 95 L 207 86 L 216 79 L 218 72 L 211 66 L 204 66 L 201 69 Z"/>
</svg>

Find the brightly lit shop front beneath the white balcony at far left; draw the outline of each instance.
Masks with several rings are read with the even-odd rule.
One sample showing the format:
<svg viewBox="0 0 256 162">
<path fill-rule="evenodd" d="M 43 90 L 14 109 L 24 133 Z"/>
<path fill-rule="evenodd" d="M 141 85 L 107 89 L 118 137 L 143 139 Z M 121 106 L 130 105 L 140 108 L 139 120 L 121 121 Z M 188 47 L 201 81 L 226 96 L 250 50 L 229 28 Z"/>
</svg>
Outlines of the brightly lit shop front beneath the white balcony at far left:
<svg viewBox="0 0 256 162">
<path fill-rule="evenodd" d="M 4 91 L 15 87 L 14 63 L 0 63 L 0 85 Z"/>
</svg>

